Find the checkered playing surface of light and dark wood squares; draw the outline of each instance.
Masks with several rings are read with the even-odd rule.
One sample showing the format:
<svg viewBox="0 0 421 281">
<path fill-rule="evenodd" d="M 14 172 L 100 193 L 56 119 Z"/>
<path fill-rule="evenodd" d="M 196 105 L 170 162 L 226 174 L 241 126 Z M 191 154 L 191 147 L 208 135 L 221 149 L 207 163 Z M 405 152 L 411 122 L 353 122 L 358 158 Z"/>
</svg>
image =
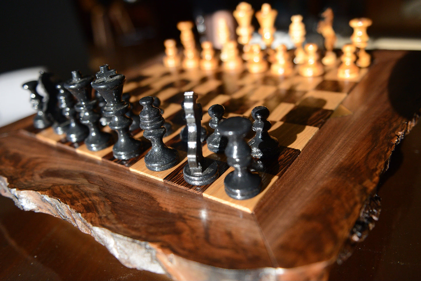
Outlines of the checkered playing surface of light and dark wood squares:
<svg viewBox="0 0 421 281">
<path fill-rule="evenodd" d="M 281 180 L 282 175 L 299 157 L 306 144 L 317 134 L 326 120 L 335 115 L 347 114 L 346 108 L 340 104 L 348 93 L 362 79 L 368 69 L 362 69 L 360 76 L 353 80 L 341 80 L 337 77 L 337 64 L 326 67 L 325 74 L 320 77 L 301 77 L 297 72 L 289 77 L 282 77 L 265 73 L 253 74 L 242 72 L 202 71 L 200 69 L 183 70 L 168 69 L 163 64 L 152 64 L 138 73 L 132 72 L 123 88 L 124 93 L 131 94 L 134 111 L 139 112 L 139 99 L 144 96 L 156 96 L 162 102 L 163 117 L 172 124 L 172 132 L 163 140 L 167 146 L 176 148 L 179 153 L 179 163 L 169 170 L 155 172 L 148 170 L 144 155 L 150 148 L 150 141 L 143 137 L 143 130 L 132 132 L 134 138 L 142 139 L 147 150 L 140 156 L 130 160 L 115 159 L 112 146 L 101 151 L 90 151 L 83 143 L 71 143 L 65 135 L 57 135 L 50 127 L 37 130 L 27 127 L 38 140 L 53 146 L 68 146 L 78 154 L 86 157 L 101 159 L 128 168 L 131 172 L 139 173 L 154 180 L 168 183 L 172 186 L 191 191 L 198 196 L 205 196 L 222 204 L 253 213 L 256 204 L 264 199 L 266 192 L 273 183 Z M 226 163 L 224 154 L 211 152 L 203 143 L 203 156 L 216 160 L 220 170 L 220 177 L 206 186 L 192 186 L 183 178 L 183 167 L 187 164 L 187 142 L 180 138 L 180 131 L 186 125 L 182 118 L 184 111 L 181 102 L 185 91 L 198 94 L 197 102 L 203 106 L 203 126 L 208 134 L 213 129 L 208 125 L 210 117 L 208 108 L 219 103 L 225 107 L 225 117 L 243 116 L 251 118 L 251 111 L 255 106 L 266 106 L 272 123 L 269 133 L 279 140 L 280 155 L 277 159 L 253 159 L 251 170 L 256 171 L 262 178 L 262 191 L 252 199 L 237 200 L 226 195 L 224 178 L 233 170 Z M 109 131 L 108 127 L 104 130 Z M 253 137 L 248 135 L 248 140 Z"/>
</svg>

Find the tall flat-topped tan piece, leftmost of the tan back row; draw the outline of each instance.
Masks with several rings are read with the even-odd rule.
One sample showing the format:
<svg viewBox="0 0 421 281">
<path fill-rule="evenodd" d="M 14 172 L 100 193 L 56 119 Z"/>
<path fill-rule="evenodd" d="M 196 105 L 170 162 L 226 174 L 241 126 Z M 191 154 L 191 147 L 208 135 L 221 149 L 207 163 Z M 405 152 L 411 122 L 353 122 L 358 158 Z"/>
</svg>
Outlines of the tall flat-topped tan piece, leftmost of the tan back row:
<svg viewBox="0 0 421 281">
<path fill-rule="evenodd" d="M 196 50 L 195 36 L 192 32 L 193 23 L 191 21 L 180 21 L 177 24 L 180 30 L 181 44 L 184 46 L 184 59 L 182 66 L 184 69 L 194 69 L 199 67 L 199 54 Z"/>
</svg>

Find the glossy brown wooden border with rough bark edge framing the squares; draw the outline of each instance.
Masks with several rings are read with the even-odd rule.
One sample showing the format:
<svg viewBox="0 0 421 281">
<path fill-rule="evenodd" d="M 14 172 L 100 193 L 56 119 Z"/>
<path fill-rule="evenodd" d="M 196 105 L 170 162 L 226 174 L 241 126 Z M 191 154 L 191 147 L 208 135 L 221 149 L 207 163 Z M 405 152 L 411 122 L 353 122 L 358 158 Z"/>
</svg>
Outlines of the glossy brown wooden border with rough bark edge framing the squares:
<svg viewBox="0 0 421 281">
<path fill-rule="evenodd" d="M 175 279 L 326 279 L 358 239 L 355 222 L 375 217 L 361 210 L 375 211 L 379 177 L 421 107 L 413 70 L 420 53 L 373 57 L 342 102 L 352 114 L 328 119 L 253 213 L 34 141 L 20 130 L 30 118 L 1 128 L 1 192 L 76 224 L 111 251 L 141 252 L 115 255 Z"/>
</svg>

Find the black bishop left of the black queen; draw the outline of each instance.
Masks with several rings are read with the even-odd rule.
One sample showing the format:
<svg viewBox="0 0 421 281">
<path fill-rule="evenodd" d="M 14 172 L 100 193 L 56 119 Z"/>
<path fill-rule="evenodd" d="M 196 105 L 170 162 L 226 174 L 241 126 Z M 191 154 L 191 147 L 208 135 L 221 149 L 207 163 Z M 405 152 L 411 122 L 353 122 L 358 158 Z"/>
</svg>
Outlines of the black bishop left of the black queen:
<svg viewBox="0 0 421 281">
<path fill-rule="evenodd" d="M 89 129 L 85 125 L 80 124 L 79 118 L 75 118 L 75 101 L 72 94 L 61 83 L 57 84 L 56 88 L 59 90 L 59 108 L 70 122 L 66 139 L 72 143 L 79 143 L 88 137 Z"/>
</svg>

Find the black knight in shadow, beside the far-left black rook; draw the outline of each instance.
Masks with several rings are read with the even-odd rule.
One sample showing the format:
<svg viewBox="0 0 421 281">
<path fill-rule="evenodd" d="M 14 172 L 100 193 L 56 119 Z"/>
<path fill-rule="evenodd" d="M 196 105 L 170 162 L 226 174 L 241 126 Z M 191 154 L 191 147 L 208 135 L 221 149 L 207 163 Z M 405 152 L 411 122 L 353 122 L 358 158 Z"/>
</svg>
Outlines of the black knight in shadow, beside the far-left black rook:
<svg viewBox="0 0 421 281">
<path fill-rule="evenodd" d="M 53 120 L 53 130 L 57 135 L 67 133 L 69 128 L 69 120 L 61 114 L 59 109 L 59 91 L 56 88 L 57 83 L 53 79 L 53 74 L 40 71 L 38 84 L 44 89 L 45 94 L 48 95 L 47 99 L 47 114 Z"/>
</svg>

